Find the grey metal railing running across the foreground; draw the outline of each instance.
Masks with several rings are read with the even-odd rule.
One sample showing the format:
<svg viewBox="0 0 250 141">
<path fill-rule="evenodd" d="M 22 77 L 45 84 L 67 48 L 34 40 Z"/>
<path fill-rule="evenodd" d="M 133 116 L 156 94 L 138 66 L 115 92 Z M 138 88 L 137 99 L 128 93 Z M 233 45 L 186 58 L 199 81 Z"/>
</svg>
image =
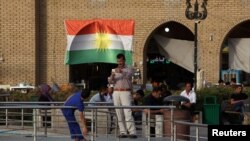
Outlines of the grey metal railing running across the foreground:
<svg viewBox="0 0 250 141">
<path fill-rule="evenodd" d="M 46 106 L 44 106 L 43 104 L 46 104 Z M 48 104 L 50 104 L 48 106 Z M 62 128 L 61 125 L 62 125 L 62 121 L 58 121 L 60 123 L 58 123 L 58 125 L 60 126 L 57 126 L 55 129 L 48 129 L 49 127 L 47 126 L 47 123 L 50 123 L 49 126 L 51 126 L 50 128 L 52 128 L 52 124 L 57 124 L 56 121 L 47 121 L 47 117 L 48 116 L 53 116 L 53 118 L 61 118 L 63 117 L 62 115 L 58 114 L 58 113 L 48 113 L 48 112 L 51 112 L 51 110 L 57 110 L 56 112 L 60 111 L 59 109 L 62 109 L 62 108 L 75 108 L 75 107 L 71 107 L 71 106 L 63 106 L 62 105 L 63 102 L 1 102 L 0 103 L 0 110 L 1 110 L 1 116 L 0 115 L 0 121 L 5 121 L 5 124 L 4 126 L 7 128 L 7 127 L 11 127 L 13 126 L 12 123 L 19 123 L 19 125 L 21 125 L 22 129 L 25 129 L 25 130 L 31 130 L 31 127 L 33 128 L 32 129 L 32 136 L 33 136 L 33 140 L 34 141 L 37 141 L 37 137 L 39 136 L 44 136 L 44 137 L 47 137 L 47 136 L 52 136 L 52 135 L 48 135 L 48 130 L 49 130 L 49 133 L 59 133 L 59 135 L 64 135 L 65 134 L 62 134 L 59 130 Z M 86 105 L 89 104 L 88 102 L 85 103 Z M 178 122 L 177 121 L 174 121 L 174 109 L 175 109 L 175 106 L 108 106 L 108 104 L 110 103 L 103 103 L 103 102 L 100 102 L 100 103 L 95 103 L 95 104 L 102 104 L 102 106 L 86 106 L 85 107 L 85 110 L 86 112 L 88 112 L 89 114 L 85 114 L 87 116 L 87 119 L 90 119 L 90 126 L 89 128 L 91 129 L 91 132 L 90 132 L 90 140 L 91 141 L 94 141 L 96 140 L 96 137 L 97 137 L 97 134 L 100 134 L 98 133 L 98 128 L 105 128 L 106 129 L 106 136 L 108 136 L 108 125 L 101 125 L 99 124 L 98 122 L 98 114 L 101 114 L 101 113 L 105 113 L 106 115 L 110 115 L 112 114 L 113 116 L 115 116 L 116 114 L 114 112 L 110 112 L 110 111 L 103 111 L 102 109 L 118 109 L 118 108 L 122 108 L 122 109 L 125 109 L 125 108 L 129 108 L 129 109 L 159 109 L 159 108 L 162 108 L 162 109 L 166 109 L 166 110 L 170 110 L 170 122 L 171 122 L 171 141 L 173 141 L 174 139 L 176 139 L 176 137 L 174 136 L 175 135 L 175 124 L 177 124 Z M 107 105 L 103 105 L 103 104 L 107 104 Z M 11 110 L 14 110 L 15 112 L 11 111 Z M 29 112 L 27 112 L 27 110 Z M 44 114 L 41 114 L 41 111 L 44 111 Z M 2 112 L 4 111 L 4 112 Z M 55 112 L 55 111 L 54 111 Z M 19 119 L 11 119 L 10 117 L 13 116 L 13 114 L 16 114 L 16 115 L 19 115 Z M 25 120 L 25 116 L 30 116 L 30 119 L 32 121 L 26 121 Z M 45 121 L 43 120 L 39 120 L 39 117 L 41 116 L 45 116 Z M 3 118 L 4 117 L 4 118 Z M 31 118 L 32 117 L 32 118 Z M 104 117 L 104 116 L 103 116 Z M 2 119 L 1 119 L 2 118 Z M 150 119 L 151 119 L 151 115 L 148 114 L 147 116 L 147 121 L 141 121 L 141 122 L 150 122 Z M 107 121 L 107 120 L 106 120 Z M 43 127 L 43 125 L 41 124 L 41 122 L 44 122 L 45 123 L 45 126 Z M 65 121 L 64 121 L 65 122 Z M 108 124 L 108 122 L 105 122 L 103 121 L 104 123 Z M 112 121 L 114 122 L 114 121 Z M 112 124 L 111 122 L 111 124 Z M 163 122 L 163 121 L 162 121 Z M 1 123 L 1 122 L 0 122 Z M 14 124 L 14 125 L 15 125 Z M 41 125 L 39 125 L 41 124 Z M 98 124 L 98 125 L 97 125 Z M 150 123 L 146 123 L 147 125 L 150 125 Z M 111 127 L 111 128 L 114 128 L 114 131 L 115 131 L 115 136 L 117 135 L 117 130 L 118 130 L 118 126 L 117 126 L 117 121 L 115 123 L 115 127 Z M 53 125 L 54 126 L 54 125 Z M 190 126 L 196 126 L 196 124 L 194 123 L 190 123 Z M 198 126 L 198 125 L 197 125 Z M 64 126 L 65 128 L 68 128 L 67 126 Z M 148 141 L 151 141 L 151 136 L 150 136 L 150 126 L 147 126 L 147 133 L 146 133 L 146 138 Z M 41 129 L 44 130 L 43 133 L 41 133 Z M 66 129 L 68 130 L 68 129 Z M 38 134 L 38 132 L 40 134 Z M 199 136 L 197 135 L 197 138 L 199 138 Z M 120 140 L 119 138 L 117 138 L 117 140 Z"/>
</svg>

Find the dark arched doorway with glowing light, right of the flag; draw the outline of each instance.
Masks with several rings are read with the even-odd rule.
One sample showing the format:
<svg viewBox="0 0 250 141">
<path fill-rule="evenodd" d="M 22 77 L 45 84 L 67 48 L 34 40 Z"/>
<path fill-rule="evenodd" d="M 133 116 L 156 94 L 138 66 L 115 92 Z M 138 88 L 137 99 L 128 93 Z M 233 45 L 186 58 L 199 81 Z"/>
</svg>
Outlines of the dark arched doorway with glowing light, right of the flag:
<svg viewBox="0 0 250 141">
<path fill-rule="evenodd" d="M 186 49 L 183 42 L 193 47 L 193 41 L 193 33 L 178 22 L 167 22 L 155 29 L 146 46 L 147 80 L 165 81 L 170 89 L 179 89 L 185 81 L 192 81 L 194 77 L 192 69 L 185 68 L 185 65 L 193 67 L 193 61 L 175 60 L 174 57 L 181 58 L 183 54 L 181 47 Z M 176 43 L 170 45 L 168 42 Z M 190 55 L 188 57 L 192 58 L 193 55 Z"/>
</svg>

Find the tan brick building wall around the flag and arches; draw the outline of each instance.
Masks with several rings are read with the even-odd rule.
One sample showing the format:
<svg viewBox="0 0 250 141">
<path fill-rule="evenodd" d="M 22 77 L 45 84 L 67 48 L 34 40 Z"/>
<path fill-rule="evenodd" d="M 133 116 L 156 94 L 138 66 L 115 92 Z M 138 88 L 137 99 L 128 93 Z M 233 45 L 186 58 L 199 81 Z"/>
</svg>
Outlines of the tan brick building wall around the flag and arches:
<svg viewBox="0 0 250 141">
<path fill-rule="evenodd" d="M 202 0 L 198 0 L 200 3 Z M 191 0 L 194 3 L 194 0 Z M 185 0 L 0 0 L 0 83 L 69 82 L 64 64 L 66 19 L 135 20 L 134 62 L 145 75 L 145 47 L 162 24 L 175 21 L 194 33 Z M 230 31 L 250 19 L 249 0 L 208 0 L 208 16 L 198 25 L 199 68 L 206 80 L 220 77 L 222 44 Z"/>
</svg>

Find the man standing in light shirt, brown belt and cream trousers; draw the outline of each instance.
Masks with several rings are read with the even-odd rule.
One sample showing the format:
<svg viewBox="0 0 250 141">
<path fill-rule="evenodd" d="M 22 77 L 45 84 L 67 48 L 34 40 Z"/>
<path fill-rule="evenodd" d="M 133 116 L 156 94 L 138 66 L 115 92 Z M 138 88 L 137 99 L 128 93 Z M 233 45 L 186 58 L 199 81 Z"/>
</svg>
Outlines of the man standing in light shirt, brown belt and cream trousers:
<svg viewBox="0 0 250 141">
<path fill-rule="evenodd" d="M 112 69 L 111 76 L 108 78 L 110 84 L 114 84 L 113 101 L 114 106 L 131 106 L 132 74 L 131 68 L 125 65 L 124 54 L 116 56 L 117 67 Z M 116 109 L 120 138 L 137 138 L 134 118 L 131 109 Z M 125 121 L 124 121 L 125 119 Z M 126 123 L 125 123 L 126 122 Z M 127 135 L 127 131 L 129 135 Z"/>
</svg>

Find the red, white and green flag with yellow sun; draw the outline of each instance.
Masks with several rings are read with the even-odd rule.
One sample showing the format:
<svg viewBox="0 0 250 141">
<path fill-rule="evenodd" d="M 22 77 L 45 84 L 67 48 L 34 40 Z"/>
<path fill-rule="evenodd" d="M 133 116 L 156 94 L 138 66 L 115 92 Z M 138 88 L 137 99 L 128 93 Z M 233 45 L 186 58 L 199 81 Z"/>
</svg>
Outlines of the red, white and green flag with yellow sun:
<svg viewBox="0 0 250 141">
<path fill-rule="evenodd" d="M 116 63 L 124 53 L 132 64 L 133 20 L 66 20 L 65 64 Z"/>
</svg>

